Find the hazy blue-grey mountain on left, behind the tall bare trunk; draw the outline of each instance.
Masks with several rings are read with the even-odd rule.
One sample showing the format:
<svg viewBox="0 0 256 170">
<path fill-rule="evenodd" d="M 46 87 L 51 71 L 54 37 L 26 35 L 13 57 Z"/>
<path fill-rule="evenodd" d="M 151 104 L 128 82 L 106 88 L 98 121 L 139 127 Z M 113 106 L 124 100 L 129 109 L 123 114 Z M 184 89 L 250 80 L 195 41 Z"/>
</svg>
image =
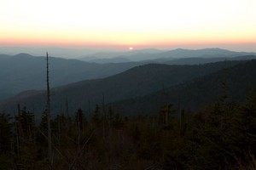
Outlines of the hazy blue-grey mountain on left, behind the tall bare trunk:
<svg viewBox="0 0 256 170">
<path fill-rule="evenodd" d="M 57 87 L 85 79 L 108 77 L 126 71 L 139 63 L 100 65 L 77 59 L 49 59 L 50 86 Z M 45 57 L 29 54 L 0 55 L 0 99 L 6 99 L 24 90 L 44 89 L 46 81 Z"/>
</svg>

